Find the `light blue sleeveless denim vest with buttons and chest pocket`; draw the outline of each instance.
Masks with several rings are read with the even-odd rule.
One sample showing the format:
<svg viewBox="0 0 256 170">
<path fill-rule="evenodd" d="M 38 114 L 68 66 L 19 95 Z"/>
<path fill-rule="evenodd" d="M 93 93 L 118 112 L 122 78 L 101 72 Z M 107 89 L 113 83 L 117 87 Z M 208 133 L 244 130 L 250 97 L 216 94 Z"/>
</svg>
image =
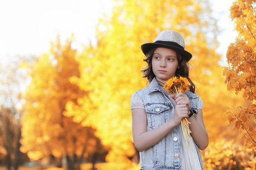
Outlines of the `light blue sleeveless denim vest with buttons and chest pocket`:
<svg viewBox="0 0 256 170">
<path fill-rule="evenodd" d="M 143 101 L 147 113 L 147 131 L 158 128 L 174 115 L 174 106 L 168 96 L 160 88 L 154 78 L 149 86 L 136 92 Z M 198 95 L 192 92 L 186 93 L 191 103 L 191 109 L 197 109 Z M 182 132 L 181 132 L 182 133 Z M 156 145 L 139 152 L 141 169 L 177 170 L 181 169 L 181 141 L 179 126 L 176 126 Z M 201 167 L 203 160 L 199 148 L 197 152 Z"/>
</svg>

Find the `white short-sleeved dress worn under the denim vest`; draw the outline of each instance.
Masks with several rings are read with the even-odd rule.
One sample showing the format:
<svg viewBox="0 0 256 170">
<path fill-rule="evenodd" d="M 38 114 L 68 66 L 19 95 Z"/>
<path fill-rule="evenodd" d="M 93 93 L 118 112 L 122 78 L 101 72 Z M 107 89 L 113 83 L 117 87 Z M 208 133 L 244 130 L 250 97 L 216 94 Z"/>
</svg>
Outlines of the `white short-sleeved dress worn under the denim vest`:
<svg viewBox="0 0 256 170">
<path fill-rule="evenodd" d="M 171 100 L 172 105 L 174 105 L 175 107 L 176 106 L 175 100 L 171 98 L 171 95 L 168 95 L 168 97 Z M 203 100 L 200 99 L 197 104 L 197 109 L 203 109 L 203 107 L 204 107 Z M 141 99 L 139 99 L 139 97 L 136 94 L 133 94 L 133 96 L 131 96 L 131 109 L 134 109 L 134 108 L 144 109 L 143 102 L 141 101 Z M 180 135 L 181 136 L 181 156 L 182 156 L 181 169 L 182 170 L 191 170 L 191 169 L 200 170 L 201 164 L 199 161 L 199 155 L 197 154 L 197 151 L 196 151 L 195 142 L 192 141 L 193 139 L 188 138 L 191 148 L 187 147 L 187 142 L 185 141 L 181 124 L 179 125 L 179 128 L 181 133 Z M 191 149 L 193 153 L 191 152 Z"/>
</svg>

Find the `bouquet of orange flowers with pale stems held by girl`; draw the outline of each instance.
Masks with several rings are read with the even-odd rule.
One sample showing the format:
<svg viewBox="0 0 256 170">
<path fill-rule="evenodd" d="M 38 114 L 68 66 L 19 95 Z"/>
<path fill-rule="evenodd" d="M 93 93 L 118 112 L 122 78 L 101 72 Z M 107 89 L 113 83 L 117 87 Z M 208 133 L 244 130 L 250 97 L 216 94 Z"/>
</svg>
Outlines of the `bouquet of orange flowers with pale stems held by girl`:
<svg viewBox="0 0 256 170">
<path fill-rule="evenodd" d="M 184 78 L 182 76 L 180 76 L 179 78 L 177 78 L 176 76 L 174 78 L 170 78 L 167 83 L 164 85 L 163 87 L 164 89 L 168 90 L 169 94 L 175 94 L 177 95 L 179 92 L 188 92 L 189 91 L 189 82 L 187 78 Z M 181 120 L 181 127 L 183 130 L 183 135 L 185 138 L 185 141 L 188 144 L 188 147 L 191 148 L 188 137 L 191 137 L 191 130 L 189 129 L 189 124 L 191 124 L 187 117 L 184 117 Z M 191 148 L 192 151 L 192 148 Z M 193 151 L 192 151 L 193 154 Z"/>
</svg>

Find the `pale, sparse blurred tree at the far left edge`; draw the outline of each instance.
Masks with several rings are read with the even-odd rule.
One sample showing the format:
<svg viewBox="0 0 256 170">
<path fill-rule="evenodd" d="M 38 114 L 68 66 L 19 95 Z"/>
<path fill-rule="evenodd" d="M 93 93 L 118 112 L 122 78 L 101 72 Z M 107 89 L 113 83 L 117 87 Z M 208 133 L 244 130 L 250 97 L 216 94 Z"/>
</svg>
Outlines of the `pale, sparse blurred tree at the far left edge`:
<svg viewBox="0 0 256 170">
<path fill-rule="evenodd" d="M 26 74 L 19 64 L 27 58 L 13 56 L 11 63 L 0 65 L 0 148 L 5 155 L 7 169 L 18 169 L 20 162 L 20 119 L 23 114 L 22 84 Z M 26 155 L 22 155 L 26 158 Z"/>
</svg>

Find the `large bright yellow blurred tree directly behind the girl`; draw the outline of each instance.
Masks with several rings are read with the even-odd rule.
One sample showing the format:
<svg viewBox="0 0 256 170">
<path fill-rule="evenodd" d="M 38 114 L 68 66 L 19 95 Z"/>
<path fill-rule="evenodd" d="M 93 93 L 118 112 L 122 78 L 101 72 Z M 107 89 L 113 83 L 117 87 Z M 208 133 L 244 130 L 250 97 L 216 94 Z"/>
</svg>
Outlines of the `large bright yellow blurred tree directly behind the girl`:
<svg viewBox="0 0 256 170">
<path fill-rule="evenodd" d="M 226 92 L 218 65 L 218 29 L 208 1 L 115 1 L 112 16 L 102 17 L 98 23 L 97 45 L 86 46 L 77 57 L 81 77 L 72 82 L 92 92 L 80 100 L 79 108 L 72 102 L 67 104 L 67 116 L 96 128 L 102 143 L 112 147 L 109 162 L 126 162 L 135 156 L 130 97 L 147 82 L 141 78 L 146 63 L 142 61 L 145 57 L 140 47 L 154 41 L 164 29 L 180 32 L 185 49 L 193 54 L 191 78 L 205 103 L 210 139 L 216 140 L 216 134 L 227 125 L 220 121 L 225 105 L 241 101 L 225 101 L 231 93 Z"/>
</svg>

